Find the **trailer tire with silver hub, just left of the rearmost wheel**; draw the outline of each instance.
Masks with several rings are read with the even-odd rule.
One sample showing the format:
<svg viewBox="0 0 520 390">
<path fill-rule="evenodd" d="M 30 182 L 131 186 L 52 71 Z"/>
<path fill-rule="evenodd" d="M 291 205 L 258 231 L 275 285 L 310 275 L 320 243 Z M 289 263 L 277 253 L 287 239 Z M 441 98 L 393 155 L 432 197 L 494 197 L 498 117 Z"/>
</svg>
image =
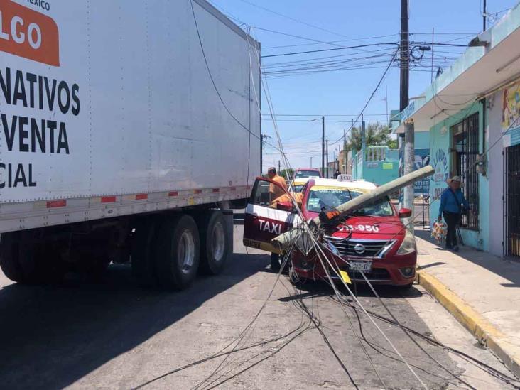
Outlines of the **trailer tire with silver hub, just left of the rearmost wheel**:
<svg viewBox="0 0 520 390">
<path fill-rule="evenodd" d="M 181 214 L 162 219 L 154 241 L 160 286 L 174 290 L 190 286 L 200 263 L 200 238 L 193 217 Z"/>
</svg>

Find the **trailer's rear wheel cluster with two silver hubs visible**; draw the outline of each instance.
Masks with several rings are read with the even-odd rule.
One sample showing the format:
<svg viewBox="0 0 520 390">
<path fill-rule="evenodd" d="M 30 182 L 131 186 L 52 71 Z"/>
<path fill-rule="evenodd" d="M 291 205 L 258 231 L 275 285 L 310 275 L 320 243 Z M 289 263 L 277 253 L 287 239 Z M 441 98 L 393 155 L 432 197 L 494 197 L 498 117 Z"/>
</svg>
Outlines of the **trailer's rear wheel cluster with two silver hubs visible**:
<svg viewBox="0 0 520 390">
<path fill-rule="evenodd" d="M 182 290 L 198 271 L 220 273 L 231 247 L 226 227 L 218 210 L 145 217 L 133 237 L 134 276 L 141 285 Z"/>
</svg>

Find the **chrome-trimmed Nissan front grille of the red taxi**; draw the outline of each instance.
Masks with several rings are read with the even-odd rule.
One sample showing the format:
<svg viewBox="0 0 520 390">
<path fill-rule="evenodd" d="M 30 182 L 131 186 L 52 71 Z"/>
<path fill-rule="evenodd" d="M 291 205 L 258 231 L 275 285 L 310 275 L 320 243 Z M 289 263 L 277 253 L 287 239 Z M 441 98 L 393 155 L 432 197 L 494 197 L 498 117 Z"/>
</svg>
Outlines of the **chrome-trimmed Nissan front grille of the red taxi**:
<svg viewBox="0 0 520 390">
<path fill-rule="evenodd" d="M 394 245 L 395 239 L 340 239 L 337 237 L 325 237 L 340 256 L 348 257 L 375 257 L 381 259 Z"/>
</svg>

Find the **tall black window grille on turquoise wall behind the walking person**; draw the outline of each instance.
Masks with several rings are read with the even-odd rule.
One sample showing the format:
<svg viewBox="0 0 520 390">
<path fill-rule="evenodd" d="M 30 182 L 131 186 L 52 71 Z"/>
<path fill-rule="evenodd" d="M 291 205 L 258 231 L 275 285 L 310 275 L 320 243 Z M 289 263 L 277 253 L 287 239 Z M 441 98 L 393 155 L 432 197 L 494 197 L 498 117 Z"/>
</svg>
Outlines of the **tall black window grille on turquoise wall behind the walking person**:
<svg viewBox="0 0 520 390">
<path fill-rule="evenodd" d="M 479 174 L 476 163 L 479 156 L 479 114 L 452 126 L 453 174 L 462 177 L 462 193 L 470 203 L 470 210 L 462 215 L 461 227 L 479 229 Z"/>
</svg>

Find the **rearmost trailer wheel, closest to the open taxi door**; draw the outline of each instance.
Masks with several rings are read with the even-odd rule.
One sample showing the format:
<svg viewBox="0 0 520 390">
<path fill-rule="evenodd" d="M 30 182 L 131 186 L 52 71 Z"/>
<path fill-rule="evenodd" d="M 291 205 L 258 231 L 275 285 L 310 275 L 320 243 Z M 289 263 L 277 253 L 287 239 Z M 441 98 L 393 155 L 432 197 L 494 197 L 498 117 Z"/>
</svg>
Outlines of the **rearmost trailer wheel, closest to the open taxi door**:
<svg viewBox="0 0 520 390">
<path fill-rule="evenodd" d="M 217 275 L 222 272 L 229 254 L 226 220 L 219 210 L 208 210 L 197 219 L 200 231 L 200 272 Z"/>
</svg>

